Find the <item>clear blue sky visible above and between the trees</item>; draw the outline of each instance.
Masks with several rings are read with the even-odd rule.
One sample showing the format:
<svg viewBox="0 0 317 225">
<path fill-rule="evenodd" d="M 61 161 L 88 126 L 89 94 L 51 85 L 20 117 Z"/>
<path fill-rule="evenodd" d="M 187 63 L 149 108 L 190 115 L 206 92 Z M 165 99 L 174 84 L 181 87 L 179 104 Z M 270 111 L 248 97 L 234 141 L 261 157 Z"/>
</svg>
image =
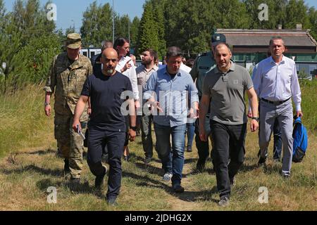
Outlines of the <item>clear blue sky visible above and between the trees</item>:
<svg viewBox="0 0 317 225">
<path fill-rule="evenodd" d="M 94 0 L 52 0 L 57 6 L 57 21 L 56 27 L 58 29 L 64 29 L 73 27 L 75 24 L 75 30 L 79 32 L 82 25 L 82 13 L 86 11 L 89 4 L 92 4 Z M 42 6 L 46 4 L 47 0 L 40 0 Z M 109 3 L 112 5 L 112 0 L 97 0 L 97 4 Z M 141 18 L 143 13 L 143 4 L 145 0 L 114 0 L 114 10 L 120 15 L 128 14 L 131 20 L 137 16 Z M 305 0 L 309 6 L 315 6 L 317 8 L 316 0 Z M 6 9 L 11 11 L 14 1 L 4 0 Z"/>
</svg>

